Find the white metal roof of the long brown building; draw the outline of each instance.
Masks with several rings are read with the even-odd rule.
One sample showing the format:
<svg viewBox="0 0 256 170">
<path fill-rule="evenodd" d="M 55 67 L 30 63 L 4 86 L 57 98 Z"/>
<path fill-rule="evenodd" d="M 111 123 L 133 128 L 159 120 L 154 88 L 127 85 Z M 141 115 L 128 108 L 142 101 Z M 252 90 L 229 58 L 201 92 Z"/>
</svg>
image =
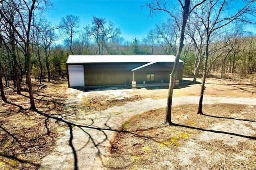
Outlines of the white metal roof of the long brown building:
<svg viewBox="0 0 256 170">
<path fill-rule="evenodd" d="M 174 55 L 69 55 L 66 63 L 174 62 Z M 179 62 L 182 62 L 181 60 Z"/>
</svg>

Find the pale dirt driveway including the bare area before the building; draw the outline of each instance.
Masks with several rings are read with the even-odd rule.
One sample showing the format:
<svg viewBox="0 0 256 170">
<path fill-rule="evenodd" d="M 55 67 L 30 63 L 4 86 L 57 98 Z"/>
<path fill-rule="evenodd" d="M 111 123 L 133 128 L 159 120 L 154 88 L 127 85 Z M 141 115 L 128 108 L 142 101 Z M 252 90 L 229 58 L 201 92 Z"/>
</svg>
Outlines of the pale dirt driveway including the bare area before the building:
<svg viewBox="0 0 256 170">
<path fill-rule="evenodd" d="M 209 89 L 209 90 L 208 90 Z M 174 90 L 173 106 L 197 104 L 200 84 Z M 203 104 L 244 104 L 256 105 L 255 87 L 241 85 L 228 80 L 208 80 Z M 69 88 L 66 100 L 66 112 L 72 113 L 62 117 L 72 122 L 69 129 L 60 130 L 61 136 L 52 152 L 46 156 L 40 169 L 106 169 L 104 160 L 109 155 L 110 141 L 122 125 L 133 115 L 148 110 L 166 107 L 167 89 L 112 89 L 82 92 Z M 142 100 L 124 102 L 118 106 L 111 105 L 115 100 L 125 100 L 143 96 Z M 102 98 L 101 103 L 88 104 L 89 99 Z M 92 106 L 109 103 L 110 107 L 102 110 L 88 111 Z M 84 107 L 82 107 L 85 104 Z M 89 106 L 90 105 L 90 106 Z M 79 106 L 79 107 L 78 107 Z M 86 107 L 86 109 L 85 109 Z M 193 147 L 193 146 L 191 146 Z M 188 155 L 189 156 L 189 155 Z M 184 157 L 186 159 L 186 157 Z M 56 163 L 58 162 L 58 163 Z"/>
</svg>

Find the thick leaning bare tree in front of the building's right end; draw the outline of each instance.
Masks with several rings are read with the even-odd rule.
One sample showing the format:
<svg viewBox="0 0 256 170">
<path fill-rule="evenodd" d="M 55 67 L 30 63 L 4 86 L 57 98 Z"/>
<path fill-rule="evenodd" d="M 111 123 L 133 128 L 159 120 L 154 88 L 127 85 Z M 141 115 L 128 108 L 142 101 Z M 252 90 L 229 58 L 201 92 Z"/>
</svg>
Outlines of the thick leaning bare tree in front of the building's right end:
<svg viewBox="0 0 256 170">
<path fill-rule="evenodd" d="M 168 89 L 168 99 L 167 99 L 167 107 L 166 107 L 166 117 L 164 120 L 164 124 L 167 125 L 171 125 L 172 121 L 171 121 L 171 111 L 172 111 L 172 94 L 173 94 L 173 88 L 174 88 L 174 80 L 175 80 L 175 76 L 178 70 L 178 62 L 180 59 L 180 55 L 182 53 L 182 48 L 184 46 L 183 41 L 184 41 L 184 34 L 185 34 L 185 28 L 186 28 L 186 23 L 188 20 L 188 17 L 190 15 L 190 13 L 194 10 L 194 8 L 196 8 L 197 6 L 199 6 L 200 4 L 204 3 L 206 0 L 202 0 L 202 2 L 199 2 L 195 5 L 193 5 L 192 8 L 190 8 L 190 0 L 184 0 L 184 2 L 182 2 L 181 0 L 178 0 L 178 5 L 174 5 L 174 6 L 170 6 L 171 4 L 170 1 L 165 1 L 165 0 L 155 0 L 152 1 L 150 3 L 146 3 L 145 6 L 147 6 L 150 10 L 150 15 L 152 15 L 154 12 L 160 12 L 160 11 L 164 11 L 167 12 L 172 18 L 174 18 L 174 21 L 176 23 L 176 26 L 179 30 L 180 33 L 180 38 L 179 38 L 179 43 L 178 43 L 178 50 L 176 53 L 176 57 L 175 57 L 175 62 L 174 62 L 174 67 L 172 69 L 172 72 L 170 74 L 170 83 L 169 83 L 169 89 Z M 176 7 L 181 8 L 177 9 Z M 172 9 L 172 11 L 170 11 L 169 9 Z M 176 14 L 176 10 L 179 10 L 182 12 L 182 16 L 179 18 L 179 15 Z"/>
</svg>

